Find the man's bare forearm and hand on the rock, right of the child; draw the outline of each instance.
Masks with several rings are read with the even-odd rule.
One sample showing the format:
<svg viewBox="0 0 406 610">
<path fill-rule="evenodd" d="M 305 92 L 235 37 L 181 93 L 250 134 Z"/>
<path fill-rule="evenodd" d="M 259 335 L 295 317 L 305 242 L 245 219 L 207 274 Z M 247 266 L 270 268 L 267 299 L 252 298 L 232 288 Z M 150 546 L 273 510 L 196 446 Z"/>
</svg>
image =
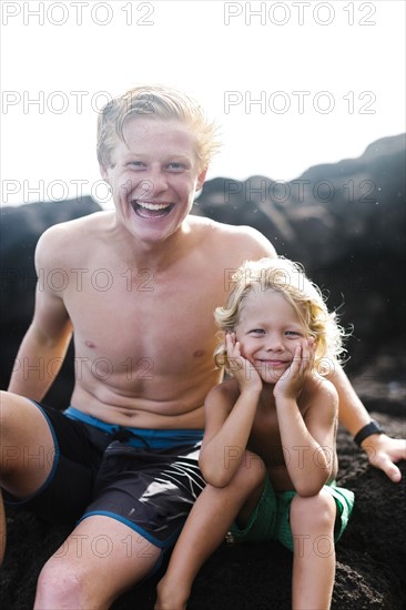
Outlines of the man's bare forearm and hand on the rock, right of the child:
<svg viewBox="0 0 406 610">
<path fill-rule="evenodd" d="M 348 377 L 341 366 L 331 376 L 338 393 L 338 419 L 352 436 L 371 423 L 371 416 L 356 395 Z M 396 461 L 406 459 L 406 440 L 390 438 L 385 434 L 372 434 L 362 443 L 372 466 L 383 470 L 388 478 L 398 482 L 402 479 Z"/>
</svg>

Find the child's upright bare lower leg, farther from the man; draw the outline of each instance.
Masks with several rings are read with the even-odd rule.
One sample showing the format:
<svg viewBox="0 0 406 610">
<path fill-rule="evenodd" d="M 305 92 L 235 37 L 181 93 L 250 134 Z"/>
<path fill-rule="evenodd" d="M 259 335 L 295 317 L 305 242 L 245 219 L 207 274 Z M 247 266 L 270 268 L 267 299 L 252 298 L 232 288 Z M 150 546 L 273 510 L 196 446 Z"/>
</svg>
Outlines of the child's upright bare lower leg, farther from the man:
<svg viewBox="0 0 406 610">
<path fill-rule="evenodd" d="M 335 576 L 335 501 L 324 489 L 317 496 L 295 496 L 292 500 L 294 610 L 328 610 L 331 607 Z"/>
</svg>

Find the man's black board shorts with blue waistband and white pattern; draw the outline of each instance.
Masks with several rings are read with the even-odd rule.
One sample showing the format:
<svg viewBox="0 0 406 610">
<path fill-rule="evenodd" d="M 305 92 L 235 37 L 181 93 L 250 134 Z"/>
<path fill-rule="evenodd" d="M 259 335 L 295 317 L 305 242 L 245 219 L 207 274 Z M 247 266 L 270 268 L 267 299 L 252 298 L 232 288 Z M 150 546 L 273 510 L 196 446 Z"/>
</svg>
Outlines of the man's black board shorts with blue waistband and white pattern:
<svg viewBox="0 0 406 610">
<path fill-rule="evenodd" d="M 55 454 L 42 487 L 21 506 L 57 523 L 111 517 L 161 549 L 176 541 L 205 486 L 199 469 L 203 430 L 111 426 L 70 407 L 33 403 L 47 418 Z"/>
</svg>

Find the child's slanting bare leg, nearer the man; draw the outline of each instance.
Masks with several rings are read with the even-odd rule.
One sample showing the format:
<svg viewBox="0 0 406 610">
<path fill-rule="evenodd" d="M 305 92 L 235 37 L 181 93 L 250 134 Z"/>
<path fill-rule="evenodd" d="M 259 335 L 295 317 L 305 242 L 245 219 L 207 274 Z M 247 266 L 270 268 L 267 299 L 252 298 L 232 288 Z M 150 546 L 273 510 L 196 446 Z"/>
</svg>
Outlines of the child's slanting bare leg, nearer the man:
<svg viewBox="0 0 406 610">
<path fill-rule="evenodd" d="M 262 460 L 256 456 L 252 459 L 247 453 L 247 459 L 226 487 L 207 485 L 203 489 L 158 586 L 155 610 L 185 608 L 193 580 L 204 561 L 222 543 L 236 516 L 240 514 L 244 523 L 260 501 L 265 472 Z"/>
</svg>

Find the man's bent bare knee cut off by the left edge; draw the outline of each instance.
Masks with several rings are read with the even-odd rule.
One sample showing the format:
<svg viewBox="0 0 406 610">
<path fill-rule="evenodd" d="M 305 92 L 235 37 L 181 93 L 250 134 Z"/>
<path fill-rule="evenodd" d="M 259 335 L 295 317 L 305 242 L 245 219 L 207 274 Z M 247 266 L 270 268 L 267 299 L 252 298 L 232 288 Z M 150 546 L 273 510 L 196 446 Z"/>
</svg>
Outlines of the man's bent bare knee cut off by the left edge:
<svg viewBox="0 0 406 610">
<path fill-rule="evenodd" d="M 18 498 L 28 497 L 51 472 L 52 433 L 40 409 L 27 398 L 2 392 L 0 400 L 0 486 Z M 3 553 L 6 519 L 1 498 L 0 504 L 0 552 Z"/>
</svg>

